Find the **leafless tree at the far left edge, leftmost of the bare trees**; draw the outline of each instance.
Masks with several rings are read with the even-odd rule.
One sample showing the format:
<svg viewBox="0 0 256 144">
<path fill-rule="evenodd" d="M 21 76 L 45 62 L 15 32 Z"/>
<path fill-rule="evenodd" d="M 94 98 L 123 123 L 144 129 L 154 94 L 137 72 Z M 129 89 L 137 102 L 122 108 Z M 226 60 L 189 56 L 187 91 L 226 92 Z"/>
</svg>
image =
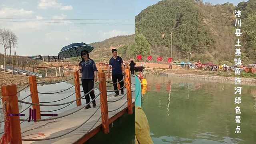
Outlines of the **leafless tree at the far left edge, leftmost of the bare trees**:
<svg viewBox="0 0 256 144">
<path fill-rule="evenodd" d="M 9 48 L 8 43 L 8 31 L 6 29 L 0 29 L 0 44 L 4 46 L 4 79 L 5 79 L 5 57 L 6 57 L 6 49 Z"/>
</svg>

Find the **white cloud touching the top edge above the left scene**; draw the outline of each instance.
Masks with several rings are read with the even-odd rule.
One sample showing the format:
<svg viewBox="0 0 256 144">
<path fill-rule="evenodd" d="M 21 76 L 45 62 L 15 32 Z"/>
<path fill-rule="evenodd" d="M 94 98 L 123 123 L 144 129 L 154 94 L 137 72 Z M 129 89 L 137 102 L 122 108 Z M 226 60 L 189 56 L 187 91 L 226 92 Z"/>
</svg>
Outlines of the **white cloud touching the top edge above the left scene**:
<svg viewBox="0 0 256 144">
<path fill-rule="evenodd" d="M 62 6 L 57 0 L 40 0 L 38 4 L 39 9 L 59 8 L 60 10 L 72 10 L 72 6 Z"/>
</svg>

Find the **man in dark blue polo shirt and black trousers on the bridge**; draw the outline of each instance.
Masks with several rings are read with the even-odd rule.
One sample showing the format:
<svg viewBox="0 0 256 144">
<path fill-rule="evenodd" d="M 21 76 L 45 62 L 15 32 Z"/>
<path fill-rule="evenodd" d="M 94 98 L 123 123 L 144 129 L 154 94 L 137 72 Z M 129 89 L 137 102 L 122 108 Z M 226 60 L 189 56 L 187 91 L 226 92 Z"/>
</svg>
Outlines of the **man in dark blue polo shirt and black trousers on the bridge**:
<svg viewBox="0 0 256 144">
<path fill-rule="evenodd" d="M 123 60 L 120 56 L 117 56 L 117 50 L 112 49 L 112 58 L 109 60 L 109 67 L 108 67 L 108 74 L 110 73 L 110 68 L 112 67 L 112 82 L 116 83 L 119 82 L 120 87 L 121 87 L 121 94 L 124 94 L 124 77 L 123 77 L 123 70 L 124 70 L 124 64 Z M 122 81 L 121 81 L 122 80 Z M 120 82 L 121 81 L 121 82 Z M 113 84 L 114 90 L 117 90 L 117 84 Z M 119 95 L 119 91 L 115 91 L 116 96 Z"/>
</svg>

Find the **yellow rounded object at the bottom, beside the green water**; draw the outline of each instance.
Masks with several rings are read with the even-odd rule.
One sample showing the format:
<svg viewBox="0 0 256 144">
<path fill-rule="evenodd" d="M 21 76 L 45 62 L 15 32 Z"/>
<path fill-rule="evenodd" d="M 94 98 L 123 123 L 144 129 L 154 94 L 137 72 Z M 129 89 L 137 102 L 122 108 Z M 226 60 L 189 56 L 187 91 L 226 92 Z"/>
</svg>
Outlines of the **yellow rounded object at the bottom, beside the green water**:
<svg viewBox="0 0 256 144">
<path fill-rule="evenodd" d="M 148 119 L 142 108 L 135 108 L 135 144 L 153 144 Z"/>
</svg>

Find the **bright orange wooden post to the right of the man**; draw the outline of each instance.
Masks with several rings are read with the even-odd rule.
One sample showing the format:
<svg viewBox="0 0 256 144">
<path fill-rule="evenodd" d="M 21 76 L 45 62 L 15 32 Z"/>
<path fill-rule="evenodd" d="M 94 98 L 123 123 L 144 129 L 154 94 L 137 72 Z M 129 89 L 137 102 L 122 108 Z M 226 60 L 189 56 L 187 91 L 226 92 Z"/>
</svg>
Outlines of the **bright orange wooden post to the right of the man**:
<svg viewBox="0 0 256 144">
<path fill-rule="evenodd" d="M 128 114 L 132 114 L 132 84 L 131 84 L 130 69 L 126 68 L 125 74 L 126 74 L 125 82 L 127 83 L 126 91 L 127 91 Z"/>
</svg>

